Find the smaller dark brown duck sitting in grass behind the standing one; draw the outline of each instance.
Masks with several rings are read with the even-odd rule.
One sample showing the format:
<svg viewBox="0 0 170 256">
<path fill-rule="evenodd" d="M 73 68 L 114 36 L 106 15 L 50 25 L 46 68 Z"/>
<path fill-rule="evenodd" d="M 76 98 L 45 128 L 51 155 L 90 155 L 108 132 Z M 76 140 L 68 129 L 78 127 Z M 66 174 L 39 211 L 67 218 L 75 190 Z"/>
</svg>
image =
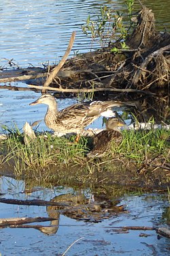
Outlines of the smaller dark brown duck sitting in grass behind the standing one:
<svg viewBox="0 0 170 256">
<path fill-rule="evenodd" d="M 95 135 L 93 139 L 94 147 L 87 154 L 88 158 L 99 158 L 103 156 L 108 150 L 110 150 L 112 140 L 115 143 L 122 141 L 122 134 L 120 132 L 120 126 L 126 126 L 124 121 L 118 117 L 110 117 L 106 122 L 106 130 L 102 130 Z"/>
</svg>

